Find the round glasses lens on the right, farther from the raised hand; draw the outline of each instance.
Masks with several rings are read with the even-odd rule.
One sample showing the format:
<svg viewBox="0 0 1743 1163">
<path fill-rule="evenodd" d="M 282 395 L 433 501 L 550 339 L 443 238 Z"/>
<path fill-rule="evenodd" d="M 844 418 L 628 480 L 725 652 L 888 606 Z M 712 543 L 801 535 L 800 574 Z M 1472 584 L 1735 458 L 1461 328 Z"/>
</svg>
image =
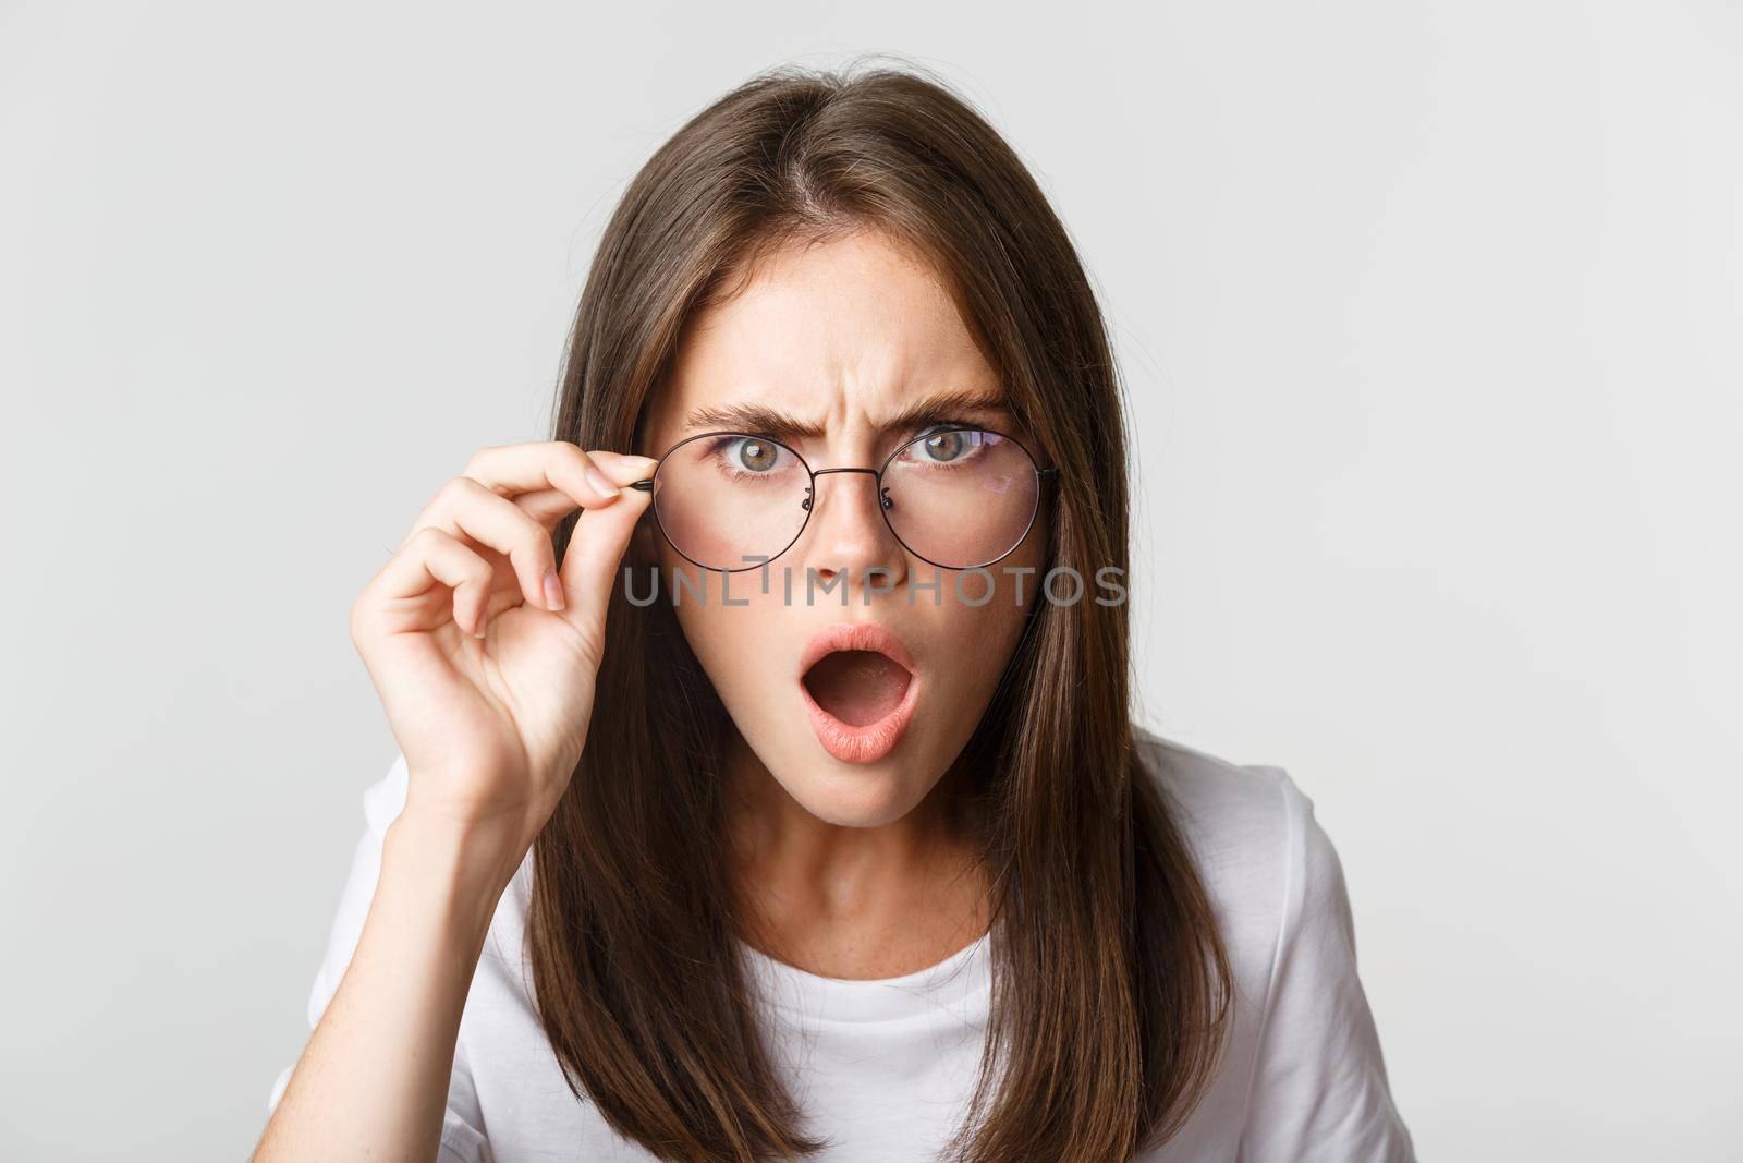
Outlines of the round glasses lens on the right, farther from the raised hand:
<svg viewBox="0 0 1743 1163">
<path fill-rule="evenodd" d="M 884 516 L 917 556 L 945 568 L 990 565 L 1028 532 L 1035 462 L 997 432 L 952 429 L 905 445 L 884 469 Z"/>
</svg>

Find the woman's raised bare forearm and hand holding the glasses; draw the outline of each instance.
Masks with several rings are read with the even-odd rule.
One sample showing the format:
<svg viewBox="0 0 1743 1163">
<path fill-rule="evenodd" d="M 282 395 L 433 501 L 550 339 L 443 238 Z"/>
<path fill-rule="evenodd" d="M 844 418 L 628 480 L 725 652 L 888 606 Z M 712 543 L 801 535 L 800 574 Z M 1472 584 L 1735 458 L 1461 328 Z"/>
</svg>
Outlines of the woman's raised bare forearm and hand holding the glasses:
<svg viewBox="0 0 1743 1163">
<path fill-rule="evenodd" d="M 352 603 L 411 783 L 254 1160 L 436 1158 L 492 914 L 587 739 L 607 600 L 648 504 L 614 488 L 652 467 L 563 441 L 485 448 Z M 551 530 L 577 507 L 558 568 Z"/>
</svg>

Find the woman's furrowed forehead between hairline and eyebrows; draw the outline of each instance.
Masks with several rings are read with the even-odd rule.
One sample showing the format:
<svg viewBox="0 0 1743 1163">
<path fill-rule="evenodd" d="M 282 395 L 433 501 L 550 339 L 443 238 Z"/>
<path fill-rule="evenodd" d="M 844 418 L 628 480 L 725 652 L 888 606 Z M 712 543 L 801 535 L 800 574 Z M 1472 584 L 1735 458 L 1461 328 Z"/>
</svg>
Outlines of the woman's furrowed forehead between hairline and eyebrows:
<svg viewBox="0 0 1743 1163">
<path fill-rule="evenodd" d="M 770 255 L 737 296 L 692 317 L 648 429 L 676 438 L 692 411 L 732 405 L 875 427 L 936 392 L 1004 398 L 936 272 L 861 232 Z"/>
</svg>

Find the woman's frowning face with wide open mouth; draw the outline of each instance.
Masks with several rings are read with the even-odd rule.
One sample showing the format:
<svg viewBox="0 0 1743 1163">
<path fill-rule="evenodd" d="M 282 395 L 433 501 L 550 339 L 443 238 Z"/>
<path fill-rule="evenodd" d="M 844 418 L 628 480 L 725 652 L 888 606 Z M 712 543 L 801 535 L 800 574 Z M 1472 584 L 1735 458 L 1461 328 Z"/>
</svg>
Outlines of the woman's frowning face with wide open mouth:
<svg viewBox="0 0 1743 1163">
<path fill-rule="evenodd" d="M 922 408 L 929 401 L 943 406 Z M 885 235 L 863 232 L 781 251 L 741 295 L 697 314 L 636 452 L 659 457 L 687 436 L 732 429 L 781 439 L 814 471 L 878 467 L 945 418 L 1014 436 L 1046 462 L 1002 401 L 997 373 L 931 270 Z M 753 422 L 736 418 L 753 408 Z M 899 420 L 915 408 L 933 415 Z M 770 411 L 795 431 L 770 429 Z M 711 446 L 695 441 L 687 450 Z M 967 452 L 943 436 L 915 455 L 931 469 L 934 459 Z M 783 466 L 784 453 L 765 445 L 736 441 L 706 455 L 739 478 L 784 469 L 804 485 L 804 471 Z M 661 504 L 680 500 L 664 490 L 708 479 L 692 473 L 662 481 Z M 988 504 L 1011 504 L 987 488 Z M 790 507 L 802 507 L 798 497 L 802 490 Z M 730 605 L 720 572 L 692 565 L 664 537 L 657 551 L 662 595 L 675 574 L 687 581 L 680 624 L 755 760 L 810 814 L 877 826 L 926 799 L 973 734 L 1039 598 L 1046 544 L 1042 506 L 1021 544 L 987 567 L 990 579 L 943 570 L 892 535 L 870 474 L 830 473 L 816 478 L 798 541 L 767 570 L 730 575 Z M 1013 572 L 1021 567 L 1032 572 Z M 807 671 L 830 645 L 870 645 L 817 638 L 842 624 L 882 628 L 912 666 L 833 654 Z"/>
</svg>

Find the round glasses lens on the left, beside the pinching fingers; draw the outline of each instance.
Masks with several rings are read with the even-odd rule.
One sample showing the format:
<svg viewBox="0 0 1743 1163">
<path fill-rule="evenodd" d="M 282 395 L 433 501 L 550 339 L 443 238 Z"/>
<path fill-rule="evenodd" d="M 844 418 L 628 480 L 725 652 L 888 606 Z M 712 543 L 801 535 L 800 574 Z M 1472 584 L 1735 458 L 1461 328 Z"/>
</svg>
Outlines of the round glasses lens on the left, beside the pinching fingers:
<svg viewBox="0 0 1743 1163">
<path fill-rule="evenodd" d="M 756 568 L 756 558 L 781 553 L 805 527 L 809 485 L 791 448 L 760 436 L 709 432 L 661 460 L 654 513 L 673 547 L 697 565 Z"/>
</svg>

